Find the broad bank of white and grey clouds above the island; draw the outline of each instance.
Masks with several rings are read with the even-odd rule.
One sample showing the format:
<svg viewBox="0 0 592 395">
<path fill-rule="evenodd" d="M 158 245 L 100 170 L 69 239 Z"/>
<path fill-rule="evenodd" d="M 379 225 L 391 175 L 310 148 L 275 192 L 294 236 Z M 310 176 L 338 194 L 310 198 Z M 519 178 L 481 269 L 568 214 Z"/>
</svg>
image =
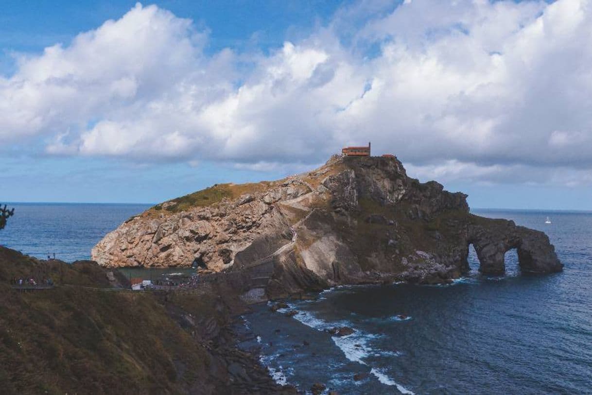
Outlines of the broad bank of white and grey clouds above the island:
<svg viewBox="0 0 592 395">
<path fill-rule="evenodd" d="M 18 59 L 0 136 L 255 169 L 372 140 L 426 178 L 590 182 L 590 37 L 589 0 L 362 2 L 270 54 L 207 55 L 207 31 L 138 4 Z"/>
</svg>

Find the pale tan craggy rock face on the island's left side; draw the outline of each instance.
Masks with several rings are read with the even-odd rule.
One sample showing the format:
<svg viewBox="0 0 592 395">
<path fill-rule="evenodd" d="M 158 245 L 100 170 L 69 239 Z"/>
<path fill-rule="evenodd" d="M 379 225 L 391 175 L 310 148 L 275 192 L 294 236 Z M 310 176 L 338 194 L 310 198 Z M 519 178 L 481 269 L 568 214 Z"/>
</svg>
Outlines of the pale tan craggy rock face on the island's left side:
<svg viewBox="0 0 592 395">
<path fill-rule="evenodd" d="M 306 185 L 288 182 L 265 194 L 245 194 L 213 206 L 133 217 L 105 236 L 92 249 L 92 258 L 109 267 L 191 266 L 195 262 L 220 271 L 262 234 L 289 233 L 289 224 L 273 203 L 309 191 Z"/>
</svg>

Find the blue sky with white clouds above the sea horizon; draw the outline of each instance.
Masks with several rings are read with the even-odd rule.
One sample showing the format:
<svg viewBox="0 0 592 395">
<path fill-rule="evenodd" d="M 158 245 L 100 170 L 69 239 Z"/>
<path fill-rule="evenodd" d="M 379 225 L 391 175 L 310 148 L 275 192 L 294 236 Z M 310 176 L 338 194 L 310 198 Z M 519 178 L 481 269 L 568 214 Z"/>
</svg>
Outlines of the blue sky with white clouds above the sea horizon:
<svg viewBox="0 0 592 395">
<path fill-rule="evenodd" d="M 592 210 L 592 0 L 0 0 L 0 200 L 157 203 L 372 142 Z"/>
</svg>

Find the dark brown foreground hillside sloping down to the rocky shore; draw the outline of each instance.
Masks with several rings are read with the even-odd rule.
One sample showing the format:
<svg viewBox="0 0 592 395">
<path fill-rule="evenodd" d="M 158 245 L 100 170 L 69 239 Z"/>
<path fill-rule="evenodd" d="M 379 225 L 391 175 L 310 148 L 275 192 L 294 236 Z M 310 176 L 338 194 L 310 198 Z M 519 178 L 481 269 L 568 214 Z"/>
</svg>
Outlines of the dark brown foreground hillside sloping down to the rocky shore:
<svg viewBox="0 0 592 395">
<path fill-rule="evenodd" d="M 23 293 L 11 285 L 21 277 L 57 285 Z M 292 393 L 234 348 L 231 316 L 244 306 L 223 283 L 162 295 L 118 283 L 94 262 L 0 247 L 0 392 Z"/>
</svg>

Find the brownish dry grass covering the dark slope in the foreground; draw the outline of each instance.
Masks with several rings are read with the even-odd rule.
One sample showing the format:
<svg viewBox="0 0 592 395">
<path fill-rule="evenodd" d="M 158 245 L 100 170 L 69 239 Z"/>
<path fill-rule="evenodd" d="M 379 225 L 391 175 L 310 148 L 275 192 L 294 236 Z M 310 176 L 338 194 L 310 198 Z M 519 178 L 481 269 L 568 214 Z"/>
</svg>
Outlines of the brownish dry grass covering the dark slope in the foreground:
<svg viewBox="0 0 592 395">
<path fill-rule="evenodd" d="M 183 393 L 207 377 L 208 352 L 150 293 L 9 287 L 19 274 L 58 275 L 59 265 L 70 266 L 0 248 L 3 394 Z M 103 287 L 105 270 L 90 265 L 62 268 L 64 280 Z"/>
</svg>

